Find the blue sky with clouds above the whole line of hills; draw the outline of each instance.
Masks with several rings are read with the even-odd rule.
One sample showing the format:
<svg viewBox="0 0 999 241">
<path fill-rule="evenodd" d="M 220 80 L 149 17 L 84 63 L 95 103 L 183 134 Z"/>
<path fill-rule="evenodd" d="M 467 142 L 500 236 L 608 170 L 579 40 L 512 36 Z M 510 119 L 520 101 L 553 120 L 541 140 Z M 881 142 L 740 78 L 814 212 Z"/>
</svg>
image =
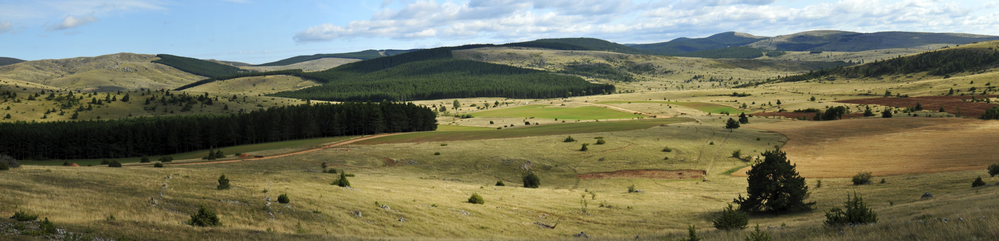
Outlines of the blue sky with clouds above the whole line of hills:
<svg viewBox="0 0 999 241">
<path fill-rule="evenodd" d="M 0 0 L 0 57 L 299 55 L 589 37 L 644 44 L 735 31 L 999 35 L 972 0 Z"/>
</svg>

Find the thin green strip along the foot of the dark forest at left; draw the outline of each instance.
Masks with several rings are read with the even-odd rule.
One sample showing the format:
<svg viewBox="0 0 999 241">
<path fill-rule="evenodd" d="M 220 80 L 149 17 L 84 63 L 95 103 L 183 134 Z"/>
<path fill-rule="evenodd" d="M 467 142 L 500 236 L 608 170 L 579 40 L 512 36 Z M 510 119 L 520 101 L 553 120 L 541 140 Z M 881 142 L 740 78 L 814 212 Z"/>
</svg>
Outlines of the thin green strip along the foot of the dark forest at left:
<svg viewBox="0 0 999 241">
<path fill-rule="evenodd" d="M 324 138 L 310 138 L 310 139 L 296 139 L 288 141 L 276 141 L 267 143 L 257 143 L 257 144 L 244 144 L 229 147 L 219 148 L 226 155 L 233 155 L 235 153 L 250 153 L 254 151 L 261 150 L 273 150 L 273 149 L 284 149 L 284 148 L 295 148 L 295 149 L 305 149 L 316 145 L 321 145 L 325 143 L 340 142 L 357 136 L 336 136 L 336 137 L 324 137 Z M 203 156 L 208 155 L 208 150 L 196 150 L 190 152 L 171 154 L 174 160 L 182 159 L 198 159 Z M 149 156 L 149 159 L 156 161 L 162 155 Z M 118 160 L 122 163 L 128 162 L 139 162 L 141 157 L 129 157 L 129 158 L 113 158 L 108 160 Z M 42 160 L 42 161 L 23 161 L 22 164 L 26 165 L 62 165 L 64 161 L 69 161 L 70 163 L 77 163 L 79 165 L 93 164 L 98 165 L 101 163 L 102 159 L 70 159 L 70 160 Z"/>
</svg>

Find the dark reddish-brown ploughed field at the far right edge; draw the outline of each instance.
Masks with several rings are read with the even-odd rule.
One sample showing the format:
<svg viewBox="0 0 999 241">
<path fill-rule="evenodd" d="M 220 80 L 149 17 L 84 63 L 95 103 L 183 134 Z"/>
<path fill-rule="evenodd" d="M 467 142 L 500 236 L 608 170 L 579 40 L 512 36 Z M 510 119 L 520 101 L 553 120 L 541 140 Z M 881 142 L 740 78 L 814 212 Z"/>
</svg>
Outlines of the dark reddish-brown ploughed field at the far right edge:
<svg viewBox="0 0 999 241">
<path fill-rule="evenodd" d="M 996 98 L 996 95 L 988 96 L 974 96 L 977 99 Z M 957 107 L 961 107 L 961 116 L 970 118 L 980 118 L 982 114 L 985 114 L 985 110 L 992 107 L 999 107 L 996 104 L 986 104 L 986 103 L 967 103 L 962 100 L 971 100 L 971 96 L 951 96 L 951 97 L 910 97 L 910 98 L 867 98 L 867 99 L 853 99 L 844 101 L 835 101 L 836 103 L 845 104 L 866 104 L 866 105 L 879 105 L 885 107 L 894 108 L 909 108 L 915 107 L 916 103 L 923 106 L 923 110 L 936 112 L 940 110 L 940 107 L 944 108 L 944 111 L 951 115 L 957 115 Z"/>
</svg>

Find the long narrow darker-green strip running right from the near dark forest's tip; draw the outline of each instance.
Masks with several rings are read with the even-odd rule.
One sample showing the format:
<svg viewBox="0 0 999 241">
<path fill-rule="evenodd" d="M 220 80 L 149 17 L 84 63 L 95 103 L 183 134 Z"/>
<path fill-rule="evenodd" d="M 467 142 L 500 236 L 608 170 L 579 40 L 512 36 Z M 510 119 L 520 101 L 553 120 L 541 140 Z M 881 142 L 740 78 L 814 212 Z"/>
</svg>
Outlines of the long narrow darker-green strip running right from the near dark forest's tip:
<svg viewBox="0 0 999 241">
<path fill-rule="evenodd" d="M 669 124 L 691 121 L 686 118 L 672 119 L 645 119 L 645 120 L 622 120 L 622 121 L 590 121 L 573 123 L 556 123 L 528 127 L 487 129 L 487 130 L 455 130 L 455 131 L 431 131 L 419 133 L 404 133 L 385 137 L 366 139 L 355 142 L 356 144 L 384 144 L 384 143 L 407 143 L 425 141 L 455 141 L 473 139 L 493 139 L 493 138 L 514 138 L 526 136 L 554 135 L 554 134 L 574 134 L 624 131 L 633 129 L 649 128 L 659 124 Z"/>
</svg>

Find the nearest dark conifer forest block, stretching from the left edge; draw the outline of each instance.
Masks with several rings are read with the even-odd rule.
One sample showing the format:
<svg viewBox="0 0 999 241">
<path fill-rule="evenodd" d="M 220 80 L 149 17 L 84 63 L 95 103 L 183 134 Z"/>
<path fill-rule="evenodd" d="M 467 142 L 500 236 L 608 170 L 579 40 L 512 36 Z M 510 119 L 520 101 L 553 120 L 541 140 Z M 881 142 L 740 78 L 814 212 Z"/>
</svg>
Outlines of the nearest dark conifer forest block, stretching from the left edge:
<svg viewBox="0 0 999 241">
<path fill-rule="evenodd" d="M 164 155 L 289 139 L 437 129 L 434 111 L 403 103 L 275 107 L 234 115 L 0 122 L 0 153 L 18 159 Z"/>
</svg>

